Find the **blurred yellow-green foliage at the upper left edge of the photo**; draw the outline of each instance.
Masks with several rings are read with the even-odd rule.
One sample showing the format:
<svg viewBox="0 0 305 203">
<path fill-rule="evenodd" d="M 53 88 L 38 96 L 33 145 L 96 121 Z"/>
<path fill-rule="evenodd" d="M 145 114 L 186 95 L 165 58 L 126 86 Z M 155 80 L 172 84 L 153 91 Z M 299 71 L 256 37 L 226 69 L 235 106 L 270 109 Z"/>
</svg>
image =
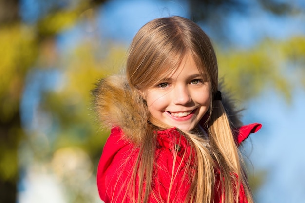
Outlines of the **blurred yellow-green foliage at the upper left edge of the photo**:
<svg viewBox="0 0 305 203">
<path fill-rule="evenodd" d="M 8 122 L 19 111 L 24 77 L 37 56 L 31 28 L 21 24 L 0 27 L 0 120 Z"/>
</svg>

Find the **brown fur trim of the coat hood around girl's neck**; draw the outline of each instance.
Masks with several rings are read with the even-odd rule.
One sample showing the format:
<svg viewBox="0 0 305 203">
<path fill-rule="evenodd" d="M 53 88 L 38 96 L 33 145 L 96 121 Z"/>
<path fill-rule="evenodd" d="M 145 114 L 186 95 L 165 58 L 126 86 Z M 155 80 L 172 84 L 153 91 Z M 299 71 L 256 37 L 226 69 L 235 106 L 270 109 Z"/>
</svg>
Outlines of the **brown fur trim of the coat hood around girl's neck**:
<svg viewBox="0 0 305 203">
<path fill-rule="evenodd" d="M 231 126 L 241 127 L 240 110 L 236 110 L 233 100 L 227 93 L 221 88 L 220 91 Z M 125 76 L 113 75 L 99 80 L 92 93 L 97 122 L 108 129 L 120 127 L 126 138 L 135 142 L 140 141 L 149 113 L 139 91 L 129 87 Z"/>
</svg>

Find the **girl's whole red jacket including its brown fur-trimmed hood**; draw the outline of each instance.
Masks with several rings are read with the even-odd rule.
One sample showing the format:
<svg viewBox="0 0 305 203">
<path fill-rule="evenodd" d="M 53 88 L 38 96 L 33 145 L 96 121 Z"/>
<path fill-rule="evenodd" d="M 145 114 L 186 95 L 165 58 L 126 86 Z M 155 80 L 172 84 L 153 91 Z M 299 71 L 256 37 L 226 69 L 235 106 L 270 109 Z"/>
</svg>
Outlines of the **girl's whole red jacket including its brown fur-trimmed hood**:
<svg viewBox="0 0 305 203">
<path fill-rule="evenodd" d="M 101 80 L 93 93 L 97 116 L 103 125 L 112 128 L 103 148 L 97 170 L 99 195 L 105 203 L 121 203 L 126 190 L 123 187 L 124 182 L 130 180 L 133 165 L 139 153 L 139 150 L 134 146 L 138 144 L 140 139 L 143 123 L 147 122 L 147 110 L 142 105 L 143 101 L 139 98 L 138 93 L 130 90 L 123 77 L 113 76 Z M 223 96 L 223 100 L 224 98 Z M 250 133 L 261 128 L 261 124 L 258 123 L 240 126 L 241 122 L 235 113 L 236 111 L 232 109 L 230 101 L 224 100 L 223 104 L 226 111 L 229 112 L 230 120 L 237 126 L 234 130 L 237 145 L 247 139 Z M 179 143 L 178 146 L 177 143 Z M 172 156 L 173 146 L 179 148 L 175 161 Z M 171 128 L 157 132 L 152 191 L 161 194 L 161 199 L 169 196 L 171 203 L 180 203 L 185 199 L 190 187 L 190 180 L 181 178 L 184 174 L 185 164 L 185 159 L 182 156 L 185 152 L 188 154 L 189 151 L 188 141 L 178 129 Z M 173 164 L 179 167 L 173 167 Z M 172 190 L 169 191 L 172 173 L 177 173 L 177 178 Z M 217 182 L 219 182 L 219 177 L 216 174 L 215 185 Z M 158 197 L 150 195 L 148 202 L 157 203 L 156 199 Z M 215 186 L 214 202 L 218 203 L 220 199 L 221 192 Z M 164 199 L 163 201 L 166 202 Z M 239 201 L 247 203 L 242 185 Z M 128 198 L 124 203 L 128 203 Z"/>
</svg>

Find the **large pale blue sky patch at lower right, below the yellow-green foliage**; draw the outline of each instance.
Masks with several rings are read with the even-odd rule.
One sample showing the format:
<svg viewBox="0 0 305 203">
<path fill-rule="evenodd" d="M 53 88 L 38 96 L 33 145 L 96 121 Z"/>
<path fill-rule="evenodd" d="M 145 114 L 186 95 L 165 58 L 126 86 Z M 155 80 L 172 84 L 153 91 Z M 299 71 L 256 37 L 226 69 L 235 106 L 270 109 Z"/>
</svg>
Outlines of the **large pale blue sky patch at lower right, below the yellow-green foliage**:
<svg viewBox="0 0 305 203">
<path fill-rule="evenodd" d="M 259 203 L 305 202 L 304 101 L 304 90 L 296 89 L 289 105 L 272 90 L 248 103 L 248 115 L 263 123 L 248 143 L 254 168 L 268 172 Z"/>
</svg>

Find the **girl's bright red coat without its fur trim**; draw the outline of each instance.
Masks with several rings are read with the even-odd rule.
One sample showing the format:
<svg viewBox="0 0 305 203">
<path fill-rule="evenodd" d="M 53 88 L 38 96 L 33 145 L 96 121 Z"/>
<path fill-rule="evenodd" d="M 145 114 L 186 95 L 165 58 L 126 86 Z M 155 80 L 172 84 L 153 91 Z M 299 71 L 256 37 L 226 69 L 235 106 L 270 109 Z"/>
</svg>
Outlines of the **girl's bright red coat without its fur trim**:
<svg viewBox="0 0 305 203">
<path fill-rule="evenodd" d="M 242 141 L 247 139 L 250 133 L 257 132 L 261 128 L 261 124 L 254 123 L 247 126 L 242 126 L 239 129 L 239 133 L 236 135 L 236 142 L 240 144 Z M 126 139 L 123 139 L 122 130 L 119 128 L 113 128 L 111 134 L 104 146 L 103 153 L 98 165 L 97 170 L 97 185 L 100 198 L 105 203 L 121 203 L 123 195 L 125 194 L 126 188 L 123 188 L 124 181 L 130 180 L 131 171 L 133 169 L 133 163 L 135 162 L 138 150 L 133 150 L 133 143 L 130 143 Z M 175 139 L 174 139 L 175 138 Z M 171 148 L 174 142 L 177 143 L 176 139 L 179 142 L 179 152 L 178 157 L 176 158 L 175 164 L 181 164 L 177 169 L 177 178 L 174 180 L 174 185 L 172 190 L 169 191 L 169 184 L 171 181 L 171 174 L 173 169 L 173 157 Z M 175 141 L 173 141 L 175 140 Z M 152 179 L 152 190 L 157 191 L 161 194 L 163 202 L 166 202 L 166 199 L 170 197 L 171 203 L 180 203 L 185 199 L 190 183 L 187 179 L 181 179 L 184 171 L 182 171 L 184 166 L 184 161 L 181 161 L 181 156 L 189 151 L 187 146 L 187 140 L 184 136 L 180 136 L 180 133 L 172 129 L 167 129 L 164 131 L 158 132 L 157 136 L 157 145 L 155 152 L 155 163 L 158 168 L 154 167 L 153 178 Z M 181 156 L 180 156 L 181 155 Z M 128 157 L 128 160 L 126 160 Z M 122 174 L 122 175 L 120 175 Z M 217 176 L 216 176 L 217 177 Z M 217 181 L 217 179 L 216 179 Z M 183 188 L 181 188 L 181 185 Z M 137 186 L 137 185 L 136 185 Z M 136 187 L 137 188 L 137 187 Z M 120 192 L 122 190 L 123 192 Z M 118 195 L 120 194 L 120 195 Z M 116 199 L 117 198 L 117 199 Z M 112 201 L 115 200 L 115 201 Z M 215 203 L 220 202 L 221 194 L 215 188 L 214 195 Z M 125 203 L 128 203 L 128 199 Z M 156 199 L 149 197 L 149 203 L 157 203 Z M 247 203 L 247 200 L 244 195 L 243 186 L 240 188 L 240 203 Z"/>
</svg>

